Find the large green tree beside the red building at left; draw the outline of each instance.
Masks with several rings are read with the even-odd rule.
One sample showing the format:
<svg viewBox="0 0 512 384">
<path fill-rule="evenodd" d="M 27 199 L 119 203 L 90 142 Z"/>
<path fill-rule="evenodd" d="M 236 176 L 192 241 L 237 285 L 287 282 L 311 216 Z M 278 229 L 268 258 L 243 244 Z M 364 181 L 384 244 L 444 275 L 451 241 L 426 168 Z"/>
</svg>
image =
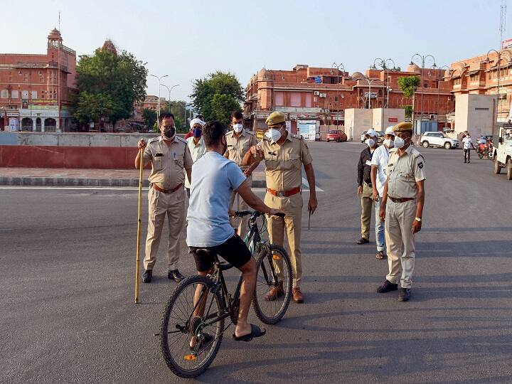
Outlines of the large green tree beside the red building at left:
<svg viewBox="0 0 512 384">
<path fill-rule="evenodd" d="M 79 122 L 104 118 L 114 124 L 133 116 L 134 103 L 146 96 L 147 69 L 142 61 L 122 51 L 117 55 L 97 49 L 95 55 L 80 56 L 76 68 L 78 94 L 73 117 Z M 93 100 L 93 99 L 97 100 Z M 94 101 L 95 108 L 87 107 Z M 97 112 L 101 111 L 98 116 Z"/>
</svg>

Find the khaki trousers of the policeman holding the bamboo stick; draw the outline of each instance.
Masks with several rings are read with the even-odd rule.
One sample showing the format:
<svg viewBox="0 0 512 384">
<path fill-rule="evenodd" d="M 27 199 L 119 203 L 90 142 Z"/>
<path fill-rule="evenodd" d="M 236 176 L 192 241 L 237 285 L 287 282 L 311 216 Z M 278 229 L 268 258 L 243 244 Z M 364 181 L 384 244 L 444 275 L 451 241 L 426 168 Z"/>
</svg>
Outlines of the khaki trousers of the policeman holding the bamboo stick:
<svg viewBox="0 0 512 384">
<path fill-rule="evenodd" d="M 169 224 L 169 242 L 167 247 L 169 270 L 178 269 L 180 256 L 180 237 L 185 217 L 185 191 L 178 188 L 174 193 L 163 193 L 149 188 L 149 220 L 146 238 L 146 257 L 144 269 L 152 270 L 156 262 L 156 254 L 160 245 L 165 217 Z"/>
</svg>

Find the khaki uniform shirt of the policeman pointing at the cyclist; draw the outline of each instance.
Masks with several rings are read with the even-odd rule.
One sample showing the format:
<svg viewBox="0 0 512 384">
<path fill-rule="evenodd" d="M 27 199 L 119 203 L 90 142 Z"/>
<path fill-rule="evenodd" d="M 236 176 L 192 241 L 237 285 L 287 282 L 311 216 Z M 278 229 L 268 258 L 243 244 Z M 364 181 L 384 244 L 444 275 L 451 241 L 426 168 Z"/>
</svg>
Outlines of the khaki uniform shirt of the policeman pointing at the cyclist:
<svg viewBox="0 0 512 384">
<path fill-rule="evenodd" d="M 288 133 L 282 146 L 267 138 L 258 146 L 265 159 L 268 188 L 289 191 L 302 186 L 302 164 L 311 164 L 313 161 L 302 137 Z"/>
</svg>

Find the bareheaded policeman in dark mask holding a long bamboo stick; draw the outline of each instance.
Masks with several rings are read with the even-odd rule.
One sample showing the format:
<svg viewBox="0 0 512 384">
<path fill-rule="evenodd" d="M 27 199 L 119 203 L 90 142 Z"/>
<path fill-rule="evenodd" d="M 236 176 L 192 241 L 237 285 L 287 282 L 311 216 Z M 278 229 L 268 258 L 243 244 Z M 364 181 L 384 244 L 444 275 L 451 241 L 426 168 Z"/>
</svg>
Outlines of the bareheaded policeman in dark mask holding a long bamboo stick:
<svg viewBox="0 0 512 384">
<path fill-rule="evenodd" d="M 149 220 L 146 238 L 146 257 L 144 257 L 144 274 L 142 282 L 151 282 L 153 267 L 156 262 L 162 228 L 167 215 L 169 222 L 169 272 L 167 277 L 181 282 L 183 276 L 178 271 L 180 255 L 180 236 L 183 229 L 185 213 L 185 191 L 183 181 L 185 169 L 191 179 L 192 157 L 186 141 L 176 136 L 174 115 L 163 113 L 160 115 L 161 136 L 149 140 L 146 145 L 144 139 L 139 141 L 139 148 L 144 148 L 144 165 L 151 161 L 151 174 L 149 175 Z M 139 168 L 140 157 L 135 158 L 135 168 Z"/>
</svg>

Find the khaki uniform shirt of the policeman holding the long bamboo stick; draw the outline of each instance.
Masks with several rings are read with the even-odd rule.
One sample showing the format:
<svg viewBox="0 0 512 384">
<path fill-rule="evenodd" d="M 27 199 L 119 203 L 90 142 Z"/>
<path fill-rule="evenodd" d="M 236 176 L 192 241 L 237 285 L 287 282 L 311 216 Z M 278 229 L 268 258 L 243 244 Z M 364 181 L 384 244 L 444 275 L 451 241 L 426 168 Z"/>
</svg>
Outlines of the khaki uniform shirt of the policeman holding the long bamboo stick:
<svg viewBox="0 0 512 384">
<path fill-rule="evenodd" d="M 183 183 L 183 169 L 192 168 L 192 157 L 186 141 L 177 136 L 170 146 L 167 146 L 162 137 L 149 140 L 143 157 L 144 161 L 151 160 L 149 182 L 166 190 Z"/>
</svg>

